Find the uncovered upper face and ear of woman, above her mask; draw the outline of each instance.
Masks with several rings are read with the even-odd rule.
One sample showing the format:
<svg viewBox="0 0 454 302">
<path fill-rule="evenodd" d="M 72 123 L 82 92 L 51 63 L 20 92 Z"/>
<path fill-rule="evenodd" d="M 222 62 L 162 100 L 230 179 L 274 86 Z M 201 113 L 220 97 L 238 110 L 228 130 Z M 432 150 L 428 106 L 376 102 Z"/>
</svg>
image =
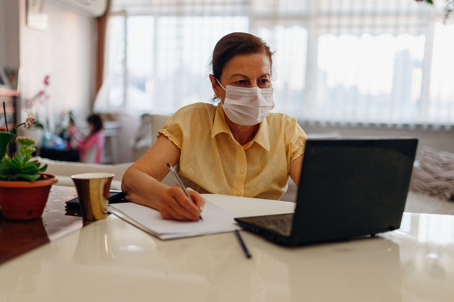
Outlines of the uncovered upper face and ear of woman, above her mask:
<svg viewBox="0 0 454 302">
<path fill-rule="evenodd" d="M 219 85 L 215 85 L 216 79 L 210 75 L 213 84 L 214 93 L 221 98 L 222 104 L 226 96 L 226 91 Z M 219 79 L 222 86 L 238 87 L 258 87 L 271 88 L 271 62 L 268 55 L 259 54 L 241 54 L 233 57 L 222 70 Z"/>
</svg>

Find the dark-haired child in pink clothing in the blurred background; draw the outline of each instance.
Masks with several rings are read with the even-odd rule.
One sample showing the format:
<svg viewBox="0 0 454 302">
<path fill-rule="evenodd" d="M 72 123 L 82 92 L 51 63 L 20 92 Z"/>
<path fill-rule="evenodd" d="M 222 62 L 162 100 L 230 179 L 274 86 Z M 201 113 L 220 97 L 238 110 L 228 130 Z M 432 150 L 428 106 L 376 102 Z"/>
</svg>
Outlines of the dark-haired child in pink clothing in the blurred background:
<svg viewBox="0 0 454 302">
<path fill-rule="evenodd" d="M 90 134 L 84 139 L 78 139 L 77 149 L 80 151 L 80 161 L 101 164 L 104 154 L 103 122 L 97 114 L 87 118 Z"/>
</svg>

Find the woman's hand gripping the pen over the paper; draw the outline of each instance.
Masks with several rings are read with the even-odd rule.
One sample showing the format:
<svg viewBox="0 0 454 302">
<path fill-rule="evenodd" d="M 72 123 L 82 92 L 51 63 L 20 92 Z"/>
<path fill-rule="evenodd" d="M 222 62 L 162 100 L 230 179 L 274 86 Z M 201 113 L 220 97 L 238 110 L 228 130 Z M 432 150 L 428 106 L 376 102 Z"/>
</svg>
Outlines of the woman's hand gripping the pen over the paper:
<svg viewBox="0 0 454 302">
<path fill-rule="evenodd" d="M 196 191 L 188 190 L 191 199 L 178 185 L 169 187 L 161 194 L 159 210 L 164 219 L 199 220 L 205 200 Z"/>
</svg>

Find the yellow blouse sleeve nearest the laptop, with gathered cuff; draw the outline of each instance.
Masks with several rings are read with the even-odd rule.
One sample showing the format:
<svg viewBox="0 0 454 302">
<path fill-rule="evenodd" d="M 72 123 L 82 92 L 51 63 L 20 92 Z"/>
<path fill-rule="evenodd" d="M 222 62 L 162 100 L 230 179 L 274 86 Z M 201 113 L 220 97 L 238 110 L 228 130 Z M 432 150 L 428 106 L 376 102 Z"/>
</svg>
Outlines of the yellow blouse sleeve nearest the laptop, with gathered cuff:
<svg viewBox="0 0 454 302">
<path fill-rule="evenodd" d="M 287 117 L 284 121 L 284 134 L 286 146 L 288 146 L 287 158 L 289 163 L 303 155 L 306 147 L 307 135 L 294 117 Z"/>
</svg>

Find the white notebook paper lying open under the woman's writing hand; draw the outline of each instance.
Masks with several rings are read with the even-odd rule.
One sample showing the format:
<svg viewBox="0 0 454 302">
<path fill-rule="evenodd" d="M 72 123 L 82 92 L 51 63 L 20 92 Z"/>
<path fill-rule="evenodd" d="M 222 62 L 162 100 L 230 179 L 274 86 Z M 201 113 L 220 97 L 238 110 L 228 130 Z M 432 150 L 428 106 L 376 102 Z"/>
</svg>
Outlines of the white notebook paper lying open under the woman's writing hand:
<svg viewBox="0 0 454 302">
<path fill-rule="evenodd" d="M 233 232 L 235 229 L 241 229 L 232 214 L 206 199 L 201 214 L 203 220 L 199 221 L 163 219 L 159 211 L 132 202 L 111 204 L 107 210 L 162 240 Z"/>
</svg>

